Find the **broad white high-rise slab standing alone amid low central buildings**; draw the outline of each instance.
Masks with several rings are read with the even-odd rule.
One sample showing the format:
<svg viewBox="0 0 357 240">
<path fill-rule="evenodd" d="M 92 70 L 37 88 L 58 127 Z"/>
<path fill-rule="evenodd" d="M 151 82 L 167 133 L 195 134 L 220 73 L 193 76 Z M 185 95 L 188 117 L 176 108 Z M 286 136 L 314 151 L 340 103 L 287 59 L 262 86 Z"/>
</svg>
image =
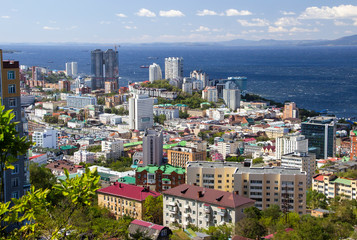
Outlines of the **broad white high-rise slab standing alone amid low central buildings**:
<svg viewBox="0 0 357 240">
<path fill-rule="evenodd" d="M 129 98 L 129 127 L 144 131 L 154 125 L 154 101 L 148 95 L 134 94 Z"/>
</svg>

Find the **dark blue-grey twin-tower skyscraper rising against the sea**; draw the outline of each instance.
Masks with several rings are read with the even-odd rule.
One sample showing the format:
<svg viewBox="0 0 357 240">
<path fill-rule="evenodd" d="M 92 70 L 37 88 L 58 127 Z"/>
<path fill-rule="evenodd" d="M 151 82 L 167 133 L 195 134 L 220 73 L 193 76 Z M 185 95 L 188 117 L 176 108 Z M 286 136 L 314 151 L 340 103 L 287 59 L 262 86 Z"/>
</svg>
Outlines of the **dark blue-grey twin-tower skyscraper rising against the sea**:
<svg viewBox="0 0 357 240">
<path fill-rule="evenodd" d="M 104 82 L 118 82 L 119 62 L 118 51 L 100 49 L 91 52 L 92 88 L 104 88 Z"/>
</svg>

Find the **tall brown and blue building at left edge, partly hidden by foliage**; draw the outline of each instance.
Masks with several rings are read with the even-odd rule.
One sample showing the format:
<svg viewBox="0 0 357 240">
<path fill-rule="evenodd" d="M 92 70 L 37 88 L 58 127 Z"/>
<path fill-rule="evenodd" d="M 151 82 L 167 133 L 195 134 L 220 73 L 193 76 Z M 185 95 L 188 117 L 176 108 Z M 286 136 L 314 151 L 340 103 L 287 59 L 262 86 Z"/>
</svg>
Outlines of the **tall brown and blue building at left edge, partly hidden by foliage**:
<svg viewBox="0 0 357 240">
<path fill-rule="evenodd" d="M 20 71 L 18 61 L 3 60 L 0 49 L 0 101 L 5 110 L 12 110 L 15 118 L 12 121 L 19 122 L 16 130 L 20 137 L 24 136 L 26 129 L 26 119 L 22 117 L 21 92 L 20 92 Z M 30 190 L 29 160 L 26 155 L 14 156 L 18 161 L 12 165 L 12 170 L 5 171 L 4 174 L 4 202 L 11 198 L 20 198 Z"/>
</svg>

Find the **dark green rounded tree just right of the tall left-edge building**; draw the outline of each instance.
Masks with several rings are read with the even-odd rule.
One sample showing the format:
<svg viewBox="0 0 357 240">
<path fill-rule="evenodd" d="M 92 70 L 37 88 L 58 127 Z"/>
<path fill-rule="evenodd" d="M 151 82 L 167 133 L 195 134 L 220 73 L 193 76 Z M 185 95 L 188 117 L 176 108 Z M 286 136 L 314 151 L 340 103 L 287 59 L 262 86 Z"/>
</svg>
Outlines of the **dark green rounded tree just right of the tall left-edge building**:
<svg viewBox="0 0 357 240">
<path fill-rule="evenodd" d="M 51 189 L 56 180 L 50 169 L 36 163 L 30 164 L 30 183 L 35 189 Z"/>
</svg>

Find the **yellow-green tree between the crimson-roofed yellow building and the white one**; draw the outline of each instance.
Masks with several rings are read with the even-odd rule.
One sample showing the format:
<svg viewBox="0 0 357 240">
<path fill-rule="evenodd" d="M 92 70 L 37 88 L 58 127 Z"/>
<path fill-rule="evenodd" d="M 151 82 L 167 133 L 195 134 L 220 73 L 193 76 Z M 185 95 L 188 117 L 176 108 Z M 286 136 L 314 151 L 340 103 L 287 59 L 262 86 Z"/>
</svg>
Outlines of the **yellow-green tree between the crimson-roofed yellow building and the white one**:
<svg viewBox="0 0 357 240">
<path fill-rule="evenodd" d="M 162 195 L 158 197 L 148 196 L 144 202 L 144 220 L 156 224 L 163 224 L 163 201 Z"/>
</svg>

